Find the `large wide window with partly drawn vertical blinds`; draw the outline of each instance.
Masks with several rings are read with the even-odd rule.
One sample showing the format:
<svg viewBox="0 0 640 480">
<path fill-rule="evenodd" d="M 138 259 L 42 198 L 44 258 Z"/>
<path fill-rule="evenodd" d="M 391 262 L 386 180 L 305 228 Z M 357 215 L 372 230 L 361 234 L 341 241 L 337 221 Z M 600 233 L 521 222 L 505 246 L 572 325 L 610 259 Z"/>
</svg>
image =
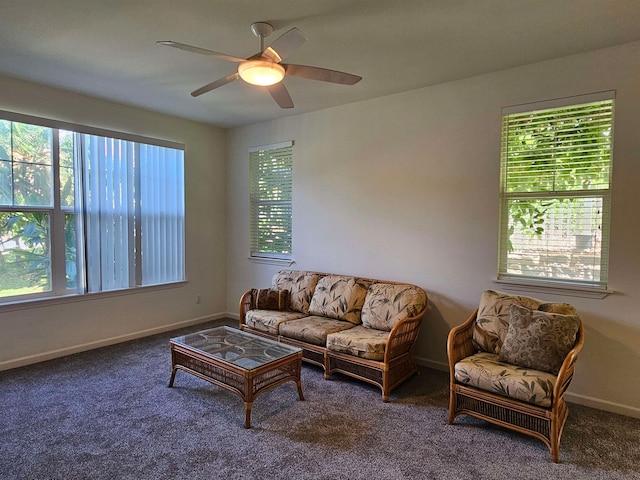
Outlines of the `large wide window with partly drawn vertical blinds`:
<svg viewBox="0 0 640 480">
<path fill-rule="evenodd" d="M 182 146 L 2 116 L 0 302 L 184 280 Z"/>
</svg>

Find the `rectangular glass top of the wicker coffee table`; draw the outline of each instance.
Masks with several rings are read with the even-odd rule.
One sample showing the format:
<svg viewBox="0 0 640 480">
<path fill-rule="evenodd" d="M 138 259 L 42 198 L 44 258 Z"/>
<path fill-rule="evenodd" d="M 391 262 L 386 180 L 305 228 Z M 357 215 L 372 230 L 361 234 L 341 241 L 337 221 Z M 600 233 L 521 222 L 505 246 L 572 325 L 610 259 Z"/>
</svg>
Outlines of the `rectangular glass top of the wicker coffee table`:
<svg viewBox="0 0 640 480">
<path fill-rule="evenodd" d="M 246 370 L 301 351 L 299 348 L 227 326 L 175 337 L 171 341 Z"/>
</svg>

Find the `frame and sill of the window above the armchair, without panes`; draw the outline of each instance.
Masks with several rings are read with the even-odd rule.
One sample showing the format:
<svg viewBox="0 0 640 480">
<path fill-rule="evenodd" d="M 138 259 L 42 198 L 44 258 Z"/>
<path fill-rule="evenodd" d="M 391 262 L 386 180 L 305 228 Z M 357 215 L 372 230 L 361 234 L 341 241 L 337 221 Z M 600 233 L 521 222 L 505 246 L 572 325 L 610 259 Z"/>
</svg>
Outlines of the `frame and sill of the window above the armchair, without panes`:
<svg viewBox="0 0 640 480">
<path fill-rule="evenodd" d="M 550 109 L 562 109 L 571 107 L 580 107 L 583 105 L 611 101 L 611 139 L 610 139 L 610 156 L 608 164 L 608 185 L 606 188 L 598 188 L 592 190 L 552 190 L 552 191 L 533 191 L 533 192 L 517 192 L 511 193 L 506 191 L 507 173 L 506 165 L 508 164 L 508 152 L 505 151 L 505 124 L 507 117 L 513 114 L 535 114 L 538 111 Z M 609 289 L 609 252 L 610 252 L 610 221 L 611 221 L 611 193 L 612 193 L 612 172 L 613 172 L 613 144 L 614 144 L 614 123 L 615 123 L 615 91 L 604 91 L 594 94 L 577 95 L 561 99 L 549 101 L 528 103 L 505 107 L 502 109 L 501 115 L 501 147 L 500 147 L 500 218 L 498 228 L 498 265 L 496 283 L 501 284 L 506 289 L 516 291 L 539 291 L 549 293 L 563 293 L 573 296 L 581 296 L 588 298 L 604 298 L 612 293 Z M 508 255 L 508 238 L 509 238 L 509 220 L 510 213 L 508 202 L 518 199 L 547 199 L 561 200 L 570 198 L 599 198 L 602 201 L 602 238 L 603 246 L 600 251 L 601 273 L 604 272 L 604 278 L 598 281 L 571 281 L 558 277 L 542 277 L 542 276 L 526 276 L 507 273 L 507 255 Z M 581 217 L 582 218 L 582 217 Z"/>
</svg>

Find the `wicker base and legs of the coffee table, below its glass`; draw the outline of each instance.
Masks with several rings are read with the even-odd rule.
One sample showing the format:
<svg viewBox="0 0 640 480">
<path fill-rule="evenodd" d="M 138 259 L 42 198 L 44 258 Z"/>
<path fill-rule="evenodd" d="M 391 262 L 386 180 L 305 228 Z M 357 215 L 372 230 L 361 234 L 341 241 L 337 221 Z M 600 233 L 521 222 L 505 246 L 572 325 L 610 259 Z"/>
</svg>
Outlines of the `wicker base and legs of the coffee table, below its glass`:
<svg viewBox="0 0 640 480">
<path fill-rule="evenodd" d="M 182 370 L 240 395 L 245 405 L 245 428 L 251 428 L 253 401 L 267 390 L 286 382 L 295 382 L 298 397 L 304 400 L 300 381 L 301 351 L 247 370 L 171 342 L 171 367 L 169 387 L 173 387 L 177 371 Z"/>
</svg>

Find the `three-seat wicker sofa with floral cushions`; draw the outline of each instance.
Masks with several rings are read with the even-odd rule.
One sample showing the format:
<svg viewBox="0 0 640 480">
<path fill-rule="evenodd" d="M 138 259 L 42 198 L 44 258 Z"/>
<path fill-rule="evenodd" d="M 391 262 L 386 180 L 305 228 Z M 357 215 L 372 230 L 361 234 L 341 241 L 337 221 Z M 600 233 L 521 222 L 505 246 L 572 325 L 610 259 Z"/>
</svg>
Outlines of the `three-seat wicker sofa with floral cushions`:
<svg viewBox="0 0 640 480">
<path fill-rule="evenodd" d="M 302 348 L 303 360 L 378 385 L 383 401 L 416 373 L 427 294 L 415 285 L 283 270 L 240 299 L 240 328 Z"/>
</svg>

